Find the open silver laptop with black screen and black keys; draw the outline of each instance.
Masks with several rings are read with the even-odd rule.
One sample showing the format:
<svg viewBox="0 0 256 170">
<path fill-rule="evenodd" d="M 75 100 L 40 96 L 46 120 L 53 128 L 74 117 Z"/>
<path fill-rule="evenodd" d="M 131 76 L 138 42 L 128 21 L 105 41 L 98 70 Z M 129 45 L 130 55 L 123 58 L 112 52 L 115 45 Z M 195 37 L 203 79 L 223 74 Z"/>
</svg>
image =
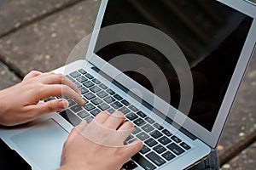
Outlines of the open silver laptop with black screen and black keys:
<svg viewBox="0 0 256 170">
<path fill-rule="evenodd" d="M 218 144 L 255 48 L 255 17 L 243 0 L 104 0 L 84 59 L 54 71 L 86 105 L 68 99 L 66 111 L 1 127 L 1 138 L 32 169 L 56 169 L 74 126 L 122 111 L 135 125 L 125 143 L 144 143 L 123 169 L 189 169 Z"/>
</svg>

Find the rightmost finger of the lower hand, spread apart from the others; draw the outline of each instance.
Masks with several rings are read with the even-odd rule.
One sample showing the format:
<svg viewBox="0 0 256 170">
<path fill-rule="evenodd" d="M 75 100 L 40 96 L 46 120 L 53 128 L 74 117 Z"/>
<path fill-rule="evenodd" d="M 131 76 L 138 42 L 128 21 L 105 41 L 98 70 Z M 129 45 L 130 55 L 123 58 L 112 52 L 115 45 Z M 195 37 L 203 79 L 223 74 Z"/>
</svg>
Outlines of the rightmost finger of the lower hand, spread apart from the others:
<svg viewBox="0 0 256 170">
<path fill-rule="evenodd" d="M 136 139 L 133 142 L 131 142 L 131 144 L 127 144 L 125 145 L 124 148 L 122 148 L 122 150 L 124 150 L 124 157 L 126 159 L 129 159 L 131 156 L 134 156 L 135 154 L 137 154 L 137 152 L 139 152 L 140 150 L 143 149 L 143 142 Z"/>
</svg>

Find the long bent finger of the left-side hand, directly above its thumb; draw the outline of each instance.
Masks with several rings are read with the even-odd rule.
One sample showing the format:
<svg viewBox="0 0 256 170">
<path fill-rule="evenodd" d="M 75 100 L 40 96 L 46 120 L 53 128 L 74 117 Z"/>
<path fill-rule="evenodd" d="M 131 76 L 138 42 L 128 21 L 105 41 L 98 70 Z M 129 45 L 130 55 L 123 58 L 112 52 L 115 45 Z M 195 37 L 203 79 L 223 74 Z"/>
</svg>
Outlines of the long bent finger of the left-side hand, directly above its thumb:
<svg viewBox="0 0 256 170">
<path fill-rule="evenodd" d="M 84 105 L 85 101 L 82 99 L 81 95 L 73 91 L 67 85 L 52 84 L 45 85 L 44 89 L 41 89 L 40 99 L 47 99 L 50 96 L 61 96 L 65 95 L 70 99 L 74 99 L 79 105 Z"/>
</svg>

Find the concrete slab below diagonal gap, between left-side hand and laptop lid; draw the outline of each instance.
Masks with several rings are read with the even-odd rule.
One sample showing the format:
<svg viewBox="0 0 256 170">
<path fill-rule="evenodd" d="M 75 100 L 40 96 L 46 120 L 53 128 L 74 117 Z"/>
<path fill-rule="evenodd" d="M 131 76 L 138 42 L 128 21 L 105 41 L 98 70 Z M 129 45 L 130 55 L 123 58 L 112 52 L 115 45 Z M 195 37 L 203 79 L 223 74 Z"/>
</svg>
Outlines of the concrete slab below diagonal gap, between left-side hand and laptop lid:
<svg viewBox="0 0 256 170">
<path fill-rule="evenodd" d="M 0 54 L 21 77 L 31 70 L 52 71 L 90 34 L 99 2 L 87 0 L 49 15 L 0 39 Z"/>
</svg>

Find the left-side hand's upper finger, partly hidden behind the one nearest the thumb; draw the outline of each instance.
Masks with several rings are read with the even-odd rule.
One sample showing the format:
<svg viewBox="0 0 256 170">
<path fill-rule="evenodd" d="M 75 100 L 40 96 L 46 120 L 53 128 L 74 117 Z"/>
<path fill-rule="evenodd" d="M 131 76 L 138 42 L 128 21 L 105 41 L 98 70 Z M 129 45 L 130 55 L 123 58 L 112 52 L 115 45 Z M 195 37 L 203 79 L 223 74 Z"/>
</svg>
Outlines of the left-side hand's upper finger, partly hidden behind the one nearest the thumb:
<svg viewBox="0 0 256 170">
<path fill-rule="evenodd" d="M 43 82 L 44 84 L 65 84 L 69 88 L 72 88 L 78 94 L 80 93 L 79 88 L 77 88 L 77 86 L 73 82 L 71 82 L 71 80 L 69 80 L 67 77 L 65 77 L 62 74 L 55 74 L 53 72 L 48 72 L 40 75 L 40 77 L 38 78 L 40 78 L 40 81 Z"/>
</svg>

